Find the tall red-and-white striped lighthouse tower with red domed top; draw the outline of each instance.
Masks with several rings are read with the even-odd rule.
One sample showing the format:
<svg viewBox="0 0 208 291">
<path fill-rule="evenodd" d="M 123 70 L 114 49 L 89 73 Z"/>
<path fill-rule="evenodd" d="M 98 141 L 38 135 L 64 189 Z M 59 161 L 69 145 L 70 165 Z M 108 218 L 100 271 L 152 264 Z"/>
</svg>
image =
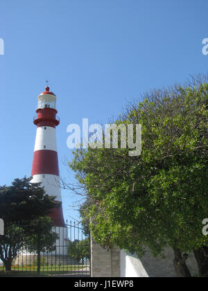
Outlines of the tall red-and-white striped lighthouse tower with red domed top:
<svg viewBox="0 0 208 291">
<path fill-rule="evenodd" d="M 56 116 L 57 97 L 47 86 L 46 91 L 37 96 L 37 115 L 34 124 L 37 125 L 35 149 L 33 156 L 32 183 L 42 183 L 46 194 L 55 196 L 57 202 L 62 202 L 60 176 L 58 168 L 58 152 L 55 127 L 60 124 Z M 55 231 L 60 238 L 56 243 L 55 254 L 67 254 L 67 229 L 64 223 L 62 206 L 52 209 L 50 214 L 55 223 Z"/>
</svg>

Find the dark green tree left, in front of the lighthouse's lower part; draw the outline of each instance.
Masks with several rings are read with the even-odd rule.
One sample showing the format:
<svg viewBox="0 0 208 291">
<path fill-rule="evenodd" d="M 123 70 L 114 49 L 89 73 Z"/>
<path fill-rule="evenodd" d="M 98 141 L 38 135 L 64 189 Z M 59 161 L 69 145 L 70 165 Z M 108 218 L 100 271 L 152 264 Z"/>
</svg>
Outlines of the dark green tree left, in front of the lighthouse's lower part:
<svg viewBox="0 0 208 291">
<path fill-rule="evenodd" d="M 53 249 L 56 233 L 51 231 L 51 209 L 59 207 L 55 197 L 49 197 L 40 184 L 31 178 L 15 179 L 11 186 L 0 187 L 0 216 L 4 220 L 4 235 L 0 236 L 0 258 L 7 271 L 23 249 L 37 251 Z"/>
</svg>

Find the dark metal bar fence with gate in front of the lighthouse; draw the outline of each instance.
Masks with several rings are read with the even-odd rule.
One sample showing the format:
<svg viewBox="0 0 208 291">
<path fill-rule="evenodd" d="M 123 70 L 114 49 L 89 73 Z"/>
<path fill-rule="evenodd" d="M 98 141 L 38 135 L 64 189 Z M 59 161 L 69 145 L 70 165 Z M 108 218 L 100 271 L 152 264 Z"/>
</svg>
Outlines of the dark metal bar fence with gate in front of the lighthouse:
<svg viewBox="0 0 208 291">
<path fill-rule="evenodd" d="M 24 236 L 27 227 L 32 229 L 30 243 Z M 56 239 L 50 245 L 51 235 L 44 233 L 40 222 L 35 227 L 34 224 L 12 224 L 12 229 L 5 233 L 5 240 L 0 237 L 0 257 L 9 256 L 14 247 L 17 254 L 12 258 L 10 270 L 0 259 L 0 276 L 90 276 L 90 238 L 83 225 L 70 221 L 65 227 L 53 227 L 51 233 L 56 233 Z"/>
</svg>

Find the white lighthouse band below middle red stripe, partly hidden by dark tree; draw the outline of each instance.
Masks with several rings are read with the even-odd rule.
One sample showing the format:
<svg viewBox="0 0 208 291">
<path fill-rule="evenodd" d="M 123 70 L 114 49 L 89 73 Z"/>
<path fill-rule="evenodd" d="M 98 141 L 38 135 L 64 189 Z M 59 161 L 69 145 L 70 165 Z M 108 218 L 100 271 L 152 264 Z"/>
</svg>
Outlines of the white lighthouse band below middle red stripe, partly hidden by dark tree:
<svg viewBox="0 0 208 291">
<path fill-rule="evenodd" d="M 49 174 L 34 175 L 31 183 L 42 183 L 41 187 L 44 187 L 46 194 L 49 196 L 56 196 L 56 201 L 62 201 L 60 177 Z"/>
</svg>

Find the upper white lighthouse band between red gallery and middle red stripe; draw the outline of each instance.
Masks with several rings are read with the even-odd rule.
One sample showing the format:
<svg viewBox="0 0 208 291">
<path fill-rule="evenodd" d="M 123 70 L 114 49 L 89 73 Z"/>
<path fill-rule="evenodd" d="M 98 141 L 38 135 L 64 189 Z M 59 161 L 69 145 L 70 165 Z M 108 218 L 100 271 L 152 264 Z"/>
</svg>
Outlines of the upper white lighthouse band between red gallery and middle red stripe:
<svg viewBox="0 0 208 291">
<path fill-rule="evenodd" d="M 55 128 L 50 126 L 37 127 L 34 152 L 37 150 L 57 152 Z"/>
</svg>

